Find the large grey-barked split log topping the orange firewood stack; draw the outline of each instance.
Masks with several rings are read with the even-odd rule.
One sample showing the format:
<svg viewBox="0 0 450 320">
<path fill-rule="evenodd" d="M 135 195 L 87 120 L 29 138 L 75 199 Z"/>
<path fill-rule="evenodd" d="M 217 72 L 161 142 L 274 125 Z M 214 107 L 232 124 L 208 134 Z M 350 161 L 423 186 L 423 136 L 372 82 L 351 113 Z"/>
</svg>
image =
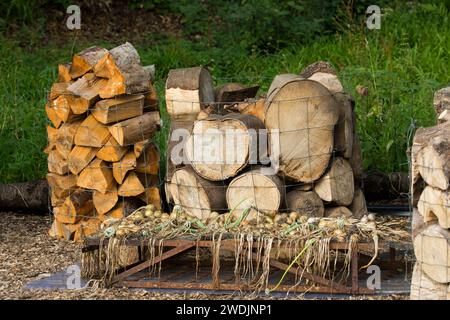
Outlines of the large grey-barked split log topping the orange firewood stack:
<svg viewBox="0 0 450 320">
<path fill-rule="evenodd" d="M 151 68 L 141 65 L 138 52 L 129 42 L 111 49 L 94 66 L 94 74 L 107 79 L 99 90 L 102 99 L 147 92 L 151 72 Z"/>
</svg>

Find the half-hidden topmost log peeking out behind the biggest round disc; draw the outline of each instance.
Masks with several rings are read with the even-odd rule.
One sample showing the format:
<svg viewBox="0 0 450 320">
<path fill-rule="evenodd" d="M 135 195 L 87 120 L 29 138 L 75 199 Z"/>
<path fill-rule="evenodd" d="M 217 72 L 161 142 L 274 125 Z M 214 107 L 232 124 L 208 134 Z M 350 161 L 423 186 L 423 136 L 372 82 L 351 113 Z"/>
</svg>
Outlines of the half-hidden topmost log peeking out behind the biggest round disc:
<svg viewBox="0 0 450 320">
<path fill-rule="evenodd" d="M 330 92 L 336 93 L 344 91 L 344 88 L 337 77 L 336 70 L 334 70 L 328 62 L 315 62 L 306 67 L 300 73 L 300 76 L 305 79 L 314 80 L 321 83 L 328 90 L 330 90 Z"/>
</svg>

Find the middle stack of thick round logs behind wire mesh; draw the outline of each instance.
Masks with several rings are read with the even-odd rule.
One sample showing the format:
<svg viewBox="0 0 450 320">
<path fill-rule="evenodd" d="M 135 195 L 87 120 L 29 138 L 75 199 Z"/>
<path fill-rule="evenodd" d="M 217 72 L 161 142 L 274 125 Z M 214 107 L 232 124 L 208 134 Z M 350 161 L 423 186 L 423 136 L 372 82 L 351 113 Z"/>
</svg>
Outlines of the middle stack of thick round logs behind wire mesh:
<svg viewBox="0 0 450 320">
<path fill-rule="evenodd" d="M 258 89 L 213 88 L 200 67 L 169 72 L 168 202 L 201 219 L 366 214 L 354 101 L 335 70 L 318 62 Z"/>
</svg>

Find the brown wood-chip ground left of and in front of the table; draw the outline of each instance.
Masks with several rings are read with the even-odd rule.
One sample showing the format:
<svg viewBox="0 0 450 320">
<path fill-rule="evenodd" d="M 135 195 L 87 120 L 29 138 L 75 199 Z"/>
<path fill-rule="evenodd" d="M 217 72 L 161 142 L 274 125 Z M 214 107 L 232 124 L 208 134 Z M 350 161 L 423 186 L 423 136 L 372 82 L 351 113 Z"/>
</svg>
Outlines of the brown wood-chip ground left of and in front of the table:
<svg viewBox="0 0 450 320">
<path fill-rule="evenodd" d="M 47 235 L 50 216 L 0 213 L 0 299 L 221 299 L 229 296 L 162 294 L 127 289 L 28 290 L 24 285 L 80 261 L 81 245 Z M 251 296 L 235 298 L 252 299 Z M 404 296 L 353 299 L 405 299 Z M 301 298 L 296 298 L 301 299 Z"/>
</svg>

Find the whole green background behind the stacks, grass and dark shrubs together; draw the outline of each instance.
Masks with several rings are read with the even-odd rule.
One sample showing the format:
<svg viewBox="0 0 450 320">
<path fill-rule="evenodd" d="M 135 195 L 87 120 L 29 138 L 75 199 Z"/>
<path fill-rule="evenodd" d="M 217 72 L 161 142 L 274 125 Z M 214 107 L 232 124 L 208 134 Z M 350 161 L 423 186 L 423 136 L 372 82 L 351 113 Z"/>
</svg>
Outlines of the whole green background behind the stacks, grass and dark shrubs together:
<svg viewBox="0 0 450 320">
<path fill-rule="evenodd" d="M 449 83 L 449 4 L 378 2 L 381 30 L 367 30 L 369 2 L 373 1 L 133 0 L 122 5 L 179 18 L 178 35 L 161 30 L 148 34 L 146 41 L 133 42 L 144 64 L 156 64 L 161 98 L 171 68 L 204 65 L 217 84 L 258 83 L 264 91 L 276 74 L 298 73 L 314 61 L 327 60 L 356 98 L 365 168 L 406 171 L 411 134 L 417 126 L 435 122 L 433 91 Z M 66 5 L 63 0 L 0 3 L 1 182 L 45 175 L 44 104 L 57 63 L 87 46 L 112 47 L 123 41 L 49 38 L 46 12 L 61 12 L 64 17 Z M 101 12 L 113 3 L 97 0 L 81 5 L 82 12 L 83 6 Z M 369 95 L 359 96 L 357 85 L 367 87 Z M 167 127 L 159 137 L 163 148 L 166 134 Z"/>
</svg>

